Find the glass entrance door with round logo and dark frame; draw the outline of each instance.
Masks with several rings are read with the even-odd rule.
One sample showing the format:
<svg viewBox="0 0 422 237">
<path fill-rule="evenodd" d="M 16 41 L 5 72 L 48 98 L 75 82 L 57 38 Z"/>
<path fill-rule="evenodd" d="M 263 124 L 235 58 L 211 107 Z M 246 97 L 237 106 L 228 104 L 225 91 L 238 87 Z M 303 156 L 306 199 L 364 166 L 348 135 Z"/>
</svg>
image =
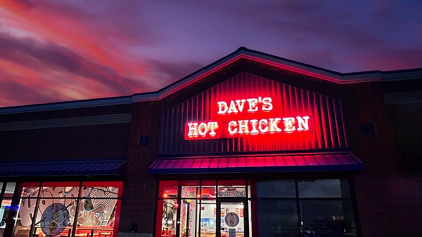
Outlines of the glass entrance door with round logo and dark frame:
<svg viewBox="0 0 422 237">
<path fill-rule="evenodd" d="M 217 237 L 248 237 L 245 216 L 244 200 L 218 201 L 217 208 L 220 210 L 220 218 L 217 222 Z"/>
</svg>

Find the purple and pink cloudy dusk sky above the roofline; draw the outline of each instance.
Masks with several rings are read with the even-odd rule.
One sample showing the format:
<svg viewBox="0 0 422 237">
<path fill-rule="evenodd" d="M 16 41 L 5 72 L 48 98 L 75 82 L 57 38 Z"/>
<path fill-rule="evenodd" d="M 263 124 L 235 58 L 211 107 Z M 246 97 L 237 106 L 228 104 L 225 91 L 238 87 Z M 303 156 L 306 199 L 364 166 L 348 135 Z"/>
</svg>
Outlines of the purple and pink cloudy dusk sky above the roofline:
<svg viewBox="0 0 422 237">
<path fill-rule="evenodd" d="M 0 3 L 0 107 L 158 90 L 240 46 L 336 72 L 422 67 L 422 1 Z"/>
</svg>

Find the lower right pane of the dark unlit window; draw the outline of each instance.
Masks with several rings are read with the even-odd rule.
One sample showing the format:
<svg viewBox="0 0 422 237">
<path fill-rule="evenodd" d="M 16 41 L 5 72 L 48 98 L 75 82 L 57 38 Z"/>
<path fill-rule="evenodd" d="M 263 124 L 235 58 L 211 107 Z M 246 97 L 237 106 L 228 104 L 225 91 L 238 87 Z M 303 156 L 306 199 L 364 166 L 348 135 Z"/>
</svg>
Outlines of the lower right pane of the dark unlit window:
<svg viewBox="0 0 422 237">
<path fill-rule="evenodd" d="M 357 236 L 350 201 L 300 201 L 303 236 Z"/>
</svg>

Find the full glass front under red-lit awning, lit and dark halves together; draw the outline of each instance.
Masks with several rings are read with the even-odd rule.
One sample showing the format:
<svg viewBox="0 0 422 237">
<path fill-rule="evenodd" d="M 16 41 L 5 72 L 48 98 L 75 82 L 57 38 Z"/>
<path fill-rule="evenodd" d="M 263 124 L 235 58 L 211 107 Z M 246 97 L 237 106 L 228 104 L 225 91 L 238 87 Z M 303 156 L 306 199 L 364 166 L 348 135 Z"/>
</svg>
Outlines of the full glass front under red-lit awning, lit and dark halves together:
<svg viewBox="0 0 422 237">
<path fill-rule="evenodd" d="M 160 181 L 155 236 L 357 236 L 348 182 Z"/>
</svg>

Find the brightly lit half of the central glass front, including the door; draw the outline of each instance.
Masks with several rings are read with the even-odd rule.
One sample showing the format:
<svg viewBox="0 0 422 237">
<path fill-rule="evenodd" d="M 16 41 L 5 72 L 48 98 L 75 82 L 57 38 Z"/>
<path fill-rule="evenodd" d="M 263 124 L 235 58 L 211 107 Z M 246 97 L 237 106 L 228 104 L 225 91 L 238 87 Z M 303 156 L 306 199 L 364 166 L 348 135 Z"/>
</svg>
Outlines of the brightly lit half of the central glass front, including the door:
<svg viewBox="0 0 422 237">
<path fill-rule="evenodd" d="M 180 197 L 160 195 L 168 187 L 179 190 Z M 248 236 L 248 189 L 246 180 L 160 181 L 155 236 Z"/>
</svg>

